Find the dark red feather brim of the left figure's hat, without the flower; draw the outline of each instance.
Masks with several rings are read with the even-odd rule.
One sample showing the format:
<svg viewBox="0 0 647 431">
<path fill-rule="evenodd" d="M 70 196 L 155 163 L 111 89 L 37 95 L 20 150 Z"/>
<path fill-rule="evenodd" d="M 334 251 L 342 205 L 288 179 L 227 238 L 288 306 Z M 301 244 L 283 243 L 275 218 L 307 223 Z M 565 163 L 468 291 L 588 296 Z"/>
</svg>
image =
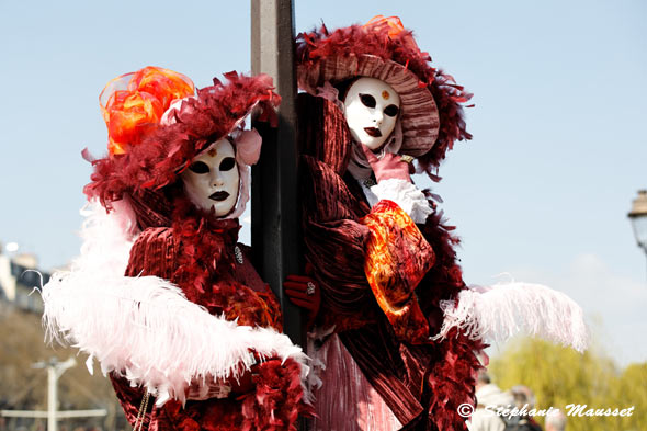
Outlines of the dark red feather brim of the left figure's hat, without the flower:
<svg viewBox="0 0 647 431">
<path fill-rule="evenodd" d="M 275 123 L 281 98 L 272 91 L 269 76 L 229 72 L 225 78 L 226 82 L 214 78 L 214 86 L 182 100 L 172 114 L 174 123 L 154 127 L 127 154 L 92 160 L 94 171 L 92 182 L 83 189 L 86 195 L 99 197 L 112 209 L 125 195 L 174 183 L 200 151 L 241 127 L 253 109 L 259 111 L 259 121 Z"/>
</svg>

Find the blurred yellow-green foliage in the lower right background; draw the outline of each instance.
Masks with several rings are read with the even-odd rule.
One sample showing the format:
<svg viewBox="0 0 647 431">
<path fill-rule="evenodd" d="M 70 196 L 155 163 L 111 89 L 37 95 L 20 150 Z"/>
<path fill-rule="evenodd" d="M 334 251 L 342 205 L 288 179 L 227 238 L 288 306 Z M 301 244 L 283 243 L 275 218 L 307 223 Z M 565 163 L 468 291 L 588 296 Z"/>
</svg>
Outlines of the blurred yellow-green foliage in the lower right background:
<svg viewBox="0 0 647 431">
<path fill-rule="evenodd" d="M 570 404 L 611 410 L 634 406 L 631 417 L 568 416 L 567 430 L 647 430 L 647 363 L 621 371 L 594 350 L 583 354 L 572 349 L 534 339 L 514 340 L 491 361 L 489 371 L 502 389 L 530 387 L 536 408 L 559 408 Z M 543 418 L 536 417 L 544 423 Z"/>
</svg>

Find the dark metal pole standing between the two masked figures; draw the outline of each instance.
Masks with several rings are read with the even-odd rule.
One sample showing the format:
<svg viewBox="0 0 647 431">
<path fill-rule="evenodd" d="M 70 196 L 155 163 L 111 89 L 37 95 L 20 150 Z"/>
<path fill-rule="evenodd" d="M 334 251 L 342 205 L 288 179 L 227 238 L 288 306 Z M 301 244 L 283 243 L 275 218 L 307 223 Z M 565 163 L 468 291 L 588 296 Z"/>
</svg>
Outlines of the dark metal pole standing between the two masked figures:
<svg viewBox="0 0 647 431">
<path fill-rule="evenodd" d="M 283 309 L 284 332 L 306 345 L 300 309 L 283 294 L 287 274 L 303 272 L 297 184 L 296 73 L 292 0 L 251 0 L 251 68 L 268 73 L 281 95 L 277 129 L 254 122 L 263 137 L 252 169 L 253 260 Z"/>
</svg>

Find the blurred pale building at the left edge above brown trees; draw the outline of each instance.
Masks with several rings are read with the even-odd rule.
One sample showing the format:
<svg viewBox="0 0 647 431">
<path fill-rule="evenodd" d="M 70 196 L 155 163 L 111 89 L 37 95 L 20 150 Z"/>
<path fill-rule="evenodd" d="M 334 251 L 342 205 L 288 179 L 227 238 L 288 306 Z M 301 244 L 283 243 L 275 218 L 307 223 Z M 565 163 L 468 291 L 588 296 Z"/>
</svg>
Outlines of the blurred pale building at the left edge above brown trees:
<svg viewBox="0 0 647 431">
<path fill-rule="evenodd" d="M 49 274 L 37 269 L 34 254 L 10 256 L 0 247 L 0 302 L 35 314 L 43 313 L 43 299 L 34 287 L 49 281 Z"/>
</svg>

